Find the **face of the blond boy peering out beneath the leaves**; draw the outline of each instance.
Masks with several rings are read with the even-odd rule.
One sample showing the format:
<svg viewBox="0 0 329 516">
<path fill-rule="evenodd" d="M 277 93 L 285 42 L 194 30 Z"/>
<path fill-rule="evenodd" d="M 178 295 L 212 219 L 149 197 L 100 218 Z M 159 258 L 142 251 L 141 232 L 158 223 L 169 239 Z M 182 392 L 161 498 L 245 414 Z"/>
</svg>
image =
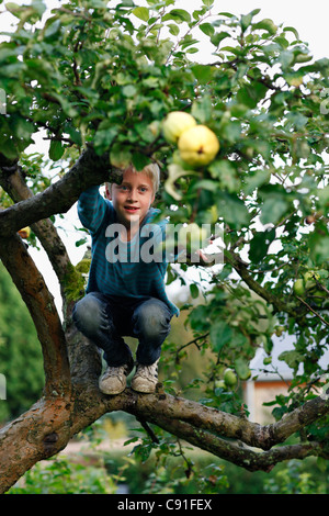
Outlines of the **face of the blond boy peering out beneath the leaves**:
<svg viewBox="0 0 329 516">
<path fill-rule="evenodd" d="M 146 216 L 155 200 L 151 179 L 144 172 L 127 169 L 123 173 L 121 184 L 112 184 L 112 191 L 106 190 L 106 197 L 112 201 L 118 222 L 129 227 Z"/>
</svg>

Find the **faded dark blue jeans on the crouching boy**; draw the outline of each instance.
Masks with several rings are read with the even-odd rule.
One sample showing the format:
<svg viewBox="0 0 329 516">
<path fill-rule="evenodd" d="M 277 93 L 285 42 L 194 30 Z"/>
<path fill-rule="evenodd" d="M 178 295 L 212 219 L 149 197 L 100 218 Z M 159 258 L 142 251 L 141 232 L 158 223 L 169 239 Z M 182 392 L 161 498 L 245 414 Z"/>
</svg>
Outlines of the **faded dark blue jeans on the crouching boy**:
<svg viewBox="0 0 329 516">
<path fill-rule="evenodd" d="M 138 339 L 138 363 L 150 366 L 158 360 L 172 315 L 155 298 L 136 301 L 90 292 L 75 305 L 72 317 L 79 332 L 103 349 L 107 364 L 120 367 L 133 362 L 124 336 Z"/>
</svg>

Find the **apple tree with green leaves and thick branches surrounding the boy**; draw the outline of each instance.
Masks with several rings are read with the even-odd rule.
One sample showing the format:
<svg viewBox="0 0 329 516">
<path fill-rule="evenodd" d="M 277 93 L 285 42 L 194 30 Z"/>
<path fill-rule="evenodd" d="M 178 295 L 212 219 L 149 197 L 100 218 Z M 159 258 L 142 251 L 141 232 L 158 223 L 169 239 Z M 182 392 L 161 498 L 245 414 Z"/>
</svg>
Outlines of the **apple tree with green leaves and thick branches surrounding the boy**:
<svg viewBox="0 0 329 516">
<path fill-rule="evenodd" d="M 0 3 L 16 20 L 0 44 L 0 258 L 30 310 L 45 371 L 43 397 L 0 430 L 1 492 L 112 411 L 136 416 L 149 449 L 173 436 L 250 471 L 328 459 L 329 60 L 259 9 L 218 12 L 212 0 L 193 12 L 174 0 L 73 0 L 50 13 L 42 0 Z M 175 111 L 216 135 L 209 162 L 190 165 L 163 136 Z M 39 137 L 46 156 L 29 154 Z M 191 267 L 208 278 L 202 298 L 202 281 L 191 284 L 185 306 L 193 340 L 169 336 L 162 354 L 175 374 L 192 346 L 207 358 L 186 386 L 192 399 L 166 382 L 155 394 L 103 395 L 100 355 L 71 322 L 84 277 L 59 237 L 60 217 L 90 186 L 118 180 L 117 164 L 140 170 L 149 160 L 161 164 L 163 216 L 224 228 L 223 267 L 204 259 L 168 270 L 168 282 L 184 283 Z M 63 316 L 22 226 L 29 247 L 48 255 Z M 276 420 L 262 426 L 248 419 L 241 385 L 258 349 L 271 368 L 282 332 L 295 337 L 281 356 L 294 379 L 273 400 Z"/>
</svg>

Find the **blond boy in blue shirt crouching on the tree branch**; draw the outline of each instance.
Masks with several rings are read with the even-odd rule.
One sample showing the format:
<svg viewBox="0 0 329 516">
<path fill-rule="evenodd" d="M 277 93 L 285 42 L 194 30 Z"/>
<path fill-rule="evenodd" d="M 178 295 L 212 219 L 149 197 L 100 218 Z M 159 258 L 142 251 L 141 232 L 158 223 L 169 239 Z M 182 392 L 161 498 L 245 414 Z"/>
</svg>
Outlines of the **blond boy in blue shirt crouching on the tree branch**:
<svg viewBox="0 0 329 516">
<path fill-rule="evenodd" d="M 179 313 L 164 291 L 167 262 L 143 260 L 140 255 L 138 259 L 145 243 L 145 237 L 139 237 L 141 229 L 159 213 L 151 207 L 159 176 L 155 164 L 143 171 L 128 167 L 121 184 L 105 184 L 106 199 L 101 197 L 99 187 L 92 187 L 78 201 L 79 218 L 92 237 L 92 260 L 86 295 L 75 306 L 73 321 L 104 351 L 107 368 L 99 386 L 105 394 L 124 391 L 134 367 L 123 336 L 138 339 L 132 389 L 155 391 L 161 345 L 170 332 L 172 316 Z M 159 223 L 161 231 L 164 223 Z M 111 248 L 114 242 L 118 254 Z"/>
</svg>

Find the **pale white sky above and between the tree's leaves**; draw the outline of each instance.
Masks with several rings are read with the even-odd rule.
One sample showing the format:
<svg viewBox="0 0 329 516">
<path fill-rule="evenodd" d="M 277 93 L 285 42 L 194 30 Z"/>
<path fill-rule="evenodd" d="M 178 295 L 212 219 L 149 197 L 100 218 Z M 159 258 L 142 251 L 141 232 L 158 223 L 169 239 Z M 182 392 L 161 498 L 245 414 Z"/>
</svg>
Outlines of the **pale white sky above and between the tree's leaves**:
<svg viewBox="0 0 329 516">
<path fill-rule="evenodd" d="M 0 32 L 9 31 L 10 24 L 15 20 L 11 14 L 3 11 L 4 1 L 0 4 Z M 15 0 L 15 3 L 24 4 L 30 3 L 29 0 Z M 59 5 L 59 0 L 46 0 L 46 5 L 54 8 Z M 135 0 L 137 5 L 146 5 L 146 0 Z M 185 9 L 189 12 L 193 12 L 202 5 L 202 0 L 177 0 L 174 8 Z M 270 18 L 276 25 L 283 24 L 283 26 L 293 26 L 297 30 L 300 40 L 307 42 L 309 51 L 315 58 L 328 57 L 329 48 L 329 3 L 324 0 L 215 0 L 212 13 L 216 14 L 223 11 L 228 11 L 232 14 L 240 15 L 247 14 L 254 9 L 261 9 L 257 15 L 257 20 L 263 18 Z M 211 21 L 211 20 L 209 20 Z M 0 36 L 1 41 L 1 36 Z M 211 48 L 207 47 L 206 43 L 201 49 L 201 60 L 205 59 L 207 63 Z M 36 148 L 38 152 L 47 152 L 46 144 L 42 139 L 36 142 Z M 33 150 L 33 149 L 29 149 Z M 68 248 L 69 256 L 73 263 L 77 263 L 84 253 L 84 248 L 77 248 L 75 246 L 76 233 L 72 228 L 72 224 L 77 222 L 77 207 L 76 205 L 65 215 L 67 221 L 70 221 L 70 226 L 67 232 L 60 231 L 65 245 Z M 55 296 L 55 302 L 60 311 L 61 302 L 59 296 L 59 288 L 55 277 L 55 273 L 47 260 L 45 253 L 36 251 L 31 248 L 31 255 L 33 256 L 36 265 L 39 267 L 44 274 L 44 278 L 48 284 L 49 290 Z"/>
</svg>

